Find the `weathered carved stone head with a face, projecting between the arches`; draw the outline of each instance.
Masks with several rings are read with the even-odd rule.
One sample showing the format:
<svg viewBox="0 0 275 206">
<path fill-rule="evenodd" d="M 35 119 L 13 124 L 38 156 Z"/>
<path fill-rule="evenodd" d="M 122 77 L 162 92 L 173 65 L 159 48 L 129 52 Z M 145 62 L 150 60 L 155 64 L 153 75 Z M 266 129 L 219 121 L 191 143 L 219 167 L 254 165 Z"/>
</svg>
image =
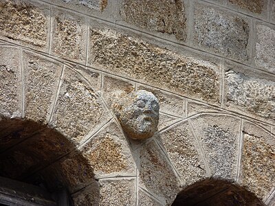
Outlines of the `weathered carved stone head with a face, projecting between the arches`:
<svg viewBox="0 0 275 206">
<path fill-rule="evenodd" d="M 159 101 L 146 90 L 133 91 L 114 104 L 115 115 L 128 137 L 152 137 L 159 123 Z"/>
</svg>

